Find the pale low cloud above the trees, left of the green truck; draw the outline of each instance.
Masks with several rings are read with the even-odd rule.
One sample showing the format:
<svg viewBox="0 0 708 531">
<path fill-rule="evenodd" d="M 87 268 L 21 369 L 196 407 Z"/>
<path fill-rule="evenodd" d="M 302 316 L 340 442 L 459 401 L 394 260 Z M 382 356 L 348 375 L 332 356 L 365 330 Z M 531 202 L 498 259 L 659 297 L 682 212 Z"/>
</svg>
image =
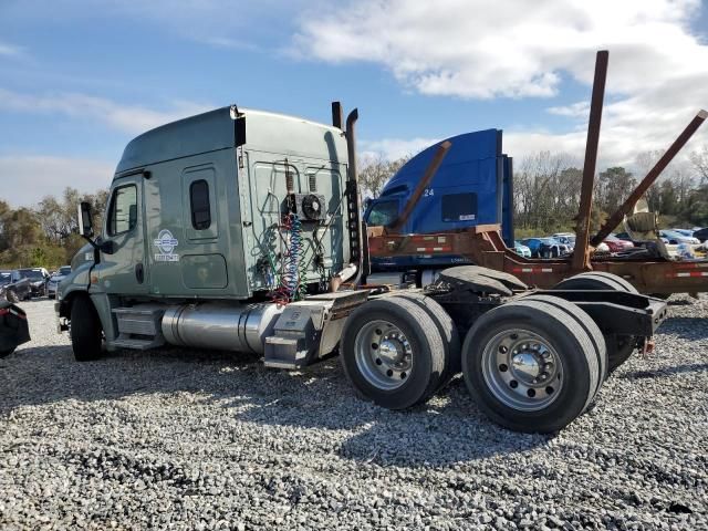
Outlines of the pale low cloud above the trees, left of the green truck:
<svg viewBox="0 0 708 531">
<path fill-rule="evenodd" d="M 61 197 L 66 186 L 93 194 L 111 186 L 114 171 L 115 164 L 102 160 L 0 156 L 2 199 L 17 208 L 35 205 L 48 195 Z"/>
</svg>

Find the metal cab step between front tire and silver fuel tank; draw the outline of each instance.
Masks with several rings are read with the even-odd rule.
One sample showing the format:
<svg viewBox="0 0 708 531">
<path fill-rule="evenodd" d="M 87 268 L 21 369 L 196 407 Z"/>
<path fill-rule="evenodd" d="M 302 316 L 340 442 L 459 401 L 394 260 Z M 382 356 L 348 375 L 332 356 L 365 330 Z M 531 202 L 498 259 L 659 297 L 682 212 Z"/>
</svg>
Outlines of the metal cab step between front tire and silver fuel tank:
<svg viewBox="0 0 708 531">
<path fill-rule="evenodd" d="M 140 304 L 115 308 L 113 313 L 118 322 L 118 336 L 112 342 L 113 346 L 147 351 L 165 344 L 160 324 L 164 306 Z"/>
</svg>

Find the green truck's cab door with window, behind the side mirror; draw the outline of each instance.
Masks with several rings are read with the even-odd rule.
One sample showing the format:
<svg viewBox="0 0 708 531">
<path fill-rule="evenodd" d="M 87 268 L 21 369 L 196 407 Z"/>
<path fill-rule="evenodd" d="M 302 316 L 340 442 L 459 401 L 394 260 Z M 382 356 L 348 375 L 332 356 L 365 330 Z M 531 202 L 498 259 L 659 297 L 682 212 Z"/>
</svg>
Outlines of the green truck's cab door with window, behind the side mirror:
<svg viewBox="0 0 708 531">
<path fill-rule="evenodd" d="M 117 179 L 111 190 L 102 241 L 112 247 L 101 252 L 95 267 L 100 291 L 108 294 L 147 293 L 148 271 L 145 260 L 145 216 L 143 177 Z M 93 279 L 92 279 L 92 283 Z"/>
</svg>

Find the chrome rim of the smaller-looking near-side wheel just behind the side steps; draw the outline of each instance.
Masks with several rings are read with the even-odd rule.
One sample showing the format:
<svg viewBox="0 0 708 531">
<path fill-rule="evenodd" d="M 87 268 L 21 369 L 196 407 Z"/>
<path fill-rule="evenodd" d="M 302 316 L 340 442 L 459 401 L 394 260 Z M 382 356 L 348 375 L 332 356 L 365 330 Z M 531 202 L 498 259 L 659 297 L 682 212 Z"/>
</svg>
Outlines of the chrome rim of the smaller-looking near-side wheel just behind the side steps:
<svg viewBox="0 0 708 531">
<path fill-rule="evenodd" d="M 378 389 L 397 389 L 410 377 L 410 343 L 388 321 L 376 320 L 362 326 L 354 340 L 354 355 L 361 375 Z"/>
</svg>

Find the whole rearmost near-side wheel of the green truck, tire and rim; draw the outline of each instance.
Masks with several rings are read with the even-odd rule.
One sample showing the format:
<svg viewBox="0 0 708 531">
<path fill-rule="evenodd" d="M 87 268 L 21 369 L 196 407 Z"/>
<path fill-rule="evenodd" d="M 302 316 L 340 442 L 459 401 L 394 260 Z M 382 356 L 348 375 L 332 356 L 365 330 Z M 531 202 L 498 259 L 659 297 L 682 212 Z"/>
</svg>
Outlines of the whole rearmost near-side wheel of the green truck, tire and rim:
<svg viewBox="0 0 708 531">
<path fill-rule="evenodd" d="M 585 410 L 600 366 L 590 336 L 572 316 L 529 301 L 498 306 L 477 320 L 462 345 L 462 374 L 493 421 L 545 434 Z"/>
</svg>

